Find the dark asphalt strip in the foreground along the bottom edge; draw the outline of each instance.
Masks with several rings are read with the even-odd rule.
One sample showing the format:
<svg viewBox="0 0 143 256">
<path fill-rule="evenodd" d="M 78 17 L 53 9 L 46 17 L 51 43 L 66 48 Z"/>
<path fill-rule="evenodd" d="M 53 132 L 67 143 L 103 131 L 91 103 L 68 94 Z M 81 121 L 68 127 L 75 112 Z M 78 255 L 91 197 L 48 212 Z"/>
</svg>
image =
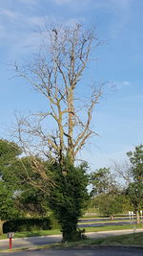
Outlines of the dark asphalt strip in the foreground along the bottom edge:
<svg viewBox="0 0 143 256">
<path fill-rule="evenodd" d="M 74 248 L 74 249 L 46 249 L 35 251 L 22 251 L 14 253 L 5 253 L 1 255 L 17 255 L 17 256 L 141 256 L 143 255 L 142 249 L 131 247 L 94 247 L 94 248 Z"/>
</svg>

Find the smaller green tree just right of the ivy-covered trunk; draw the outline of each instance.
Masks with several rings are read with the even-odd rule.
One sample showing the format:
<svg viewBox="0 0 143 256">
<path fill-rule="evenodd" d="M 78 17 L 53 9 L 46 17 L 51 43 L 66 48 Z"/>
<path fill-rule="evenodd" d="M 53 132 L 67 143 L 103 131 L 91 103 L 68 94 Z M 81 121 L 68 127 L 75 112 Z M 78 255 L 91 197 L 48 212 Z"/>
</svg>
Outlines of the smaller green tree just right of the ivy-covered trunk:
<svg viewBox="0 0 143 256">
<path fill-rule="evenodd" d="M 96 170 L 91 176 L 91 183 L 92 205 L 98 208 L 101 214 L 110 216 L 113 220 L 113 215 L 122 211 L 123 197 L 110 169 Z"/>
</svg>

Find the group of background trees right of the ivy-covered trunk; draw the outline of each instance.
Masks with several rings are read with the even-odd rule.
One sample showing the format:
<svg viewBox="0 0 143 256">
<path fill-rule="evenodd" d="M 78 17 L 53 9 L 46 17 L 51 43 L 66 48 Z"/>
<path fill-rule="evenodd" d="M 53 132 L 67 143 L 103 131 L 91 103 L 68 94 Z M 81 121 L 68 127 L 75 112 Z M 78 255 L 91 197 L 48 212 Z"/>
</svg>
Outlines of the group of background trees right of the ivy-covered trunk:
<svg viewBox="0 0 143 256">
<path fill-rule="evenodd" d="M 126 170 L 116 164 L 114 173 L 102 168 L 92 174 L 92 206 L 111 219 L 117 213 L 132 210 L 139 223 L 139 213 L 143 209 L 143 145 L 135 147 L 127 155 L 130 164 Z M 114 175 L 120 175 L 124 184 Z"/>
</svg>

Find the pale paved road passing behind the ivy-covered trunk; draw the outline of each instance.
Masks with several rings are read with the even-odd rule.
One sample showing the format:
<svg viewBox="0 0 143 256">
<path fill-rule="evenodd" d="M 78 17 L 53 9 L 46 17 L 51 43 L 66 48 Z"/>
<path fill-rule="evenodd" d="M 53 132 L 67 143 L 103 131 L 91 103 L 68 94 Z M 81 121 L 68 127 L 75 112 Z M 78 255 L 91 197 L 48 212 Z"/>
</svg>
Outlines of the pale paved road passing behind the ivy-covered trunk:
<svg viewBox="0 0 143 256">
<path fill-rule="evenodd" d="M 143 232 L 143 229 L 138 229 L 136 232 Z M 88 238 L 106 238 L 116 235 L 131 234 L 133 230 L 119 230 L 119 231 L 102 231 L 87 233 Z M 31 237 L 22 239 L 12 239 L 12 247 L 32 247 L 35 245 L 54 244 L 61 242 L 61 235 L 44 236 L 44 237 Z M 0 240 L 0 248 L 9 248 L 9 239 Z"/>
</svg>

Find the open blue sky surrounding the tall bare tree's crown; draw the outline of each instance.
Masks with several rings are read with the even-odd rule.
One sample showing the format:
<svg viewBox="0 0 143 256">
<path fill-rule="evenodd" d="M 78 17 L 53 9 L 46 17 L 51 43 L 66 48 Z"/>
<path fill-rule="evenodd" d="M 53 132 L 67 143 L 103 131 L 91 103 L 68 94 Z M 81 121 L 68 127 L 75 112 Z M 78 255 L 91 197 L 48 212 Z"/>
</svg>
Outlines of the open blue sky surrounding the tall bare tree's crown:
<svg viewBox="0 0 143 256">
<path fill-rule="evenodd" d="M 10 62 L 28 56 L 45 23 L 95 26 L 105 43 L 95 51 L 85 81 L 110 81 L 93 112 L 94 137 L 81 156 L 92 169 L 121 161 L 143 143 L 143 1 L 142 0 L 1 0 L 0 137 L 9 138 L 14 111 L 42 107 L 31 86 L 11 79 Z"/>
</svg>

